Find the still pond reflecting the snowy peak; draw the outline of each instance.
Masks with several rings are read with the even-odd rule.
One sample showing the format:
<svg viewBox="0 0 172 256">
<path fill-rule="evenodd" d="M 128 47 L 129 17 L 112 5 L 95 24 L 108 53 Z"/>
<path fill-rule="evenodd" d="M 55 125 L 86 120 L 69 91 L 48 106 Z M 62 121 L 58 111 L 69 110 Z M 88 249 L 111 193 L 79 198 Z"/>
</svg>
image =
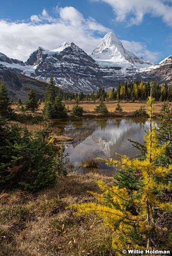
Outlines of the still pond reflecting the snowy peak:
<svg viewBox="0 0 172 256">
<path fill-rule="evenodd" d="M 128 139 L 143 143 L 145 131 L 149 130 L 149 122 L 142 118 L 76 120 L 55 125 L 61 128 L 63 135 L 73 140 L 73 143 L 66 144 L 65 153 L 70 153 L 70 162 L 75 166 L 88 158 L 119 159 L 116 152 L 134 158 L 139 151 Z M 99 172 L 115 172 L 113 167 L 107 167 L 103 162 L 99 166 Z"/>
</svg>

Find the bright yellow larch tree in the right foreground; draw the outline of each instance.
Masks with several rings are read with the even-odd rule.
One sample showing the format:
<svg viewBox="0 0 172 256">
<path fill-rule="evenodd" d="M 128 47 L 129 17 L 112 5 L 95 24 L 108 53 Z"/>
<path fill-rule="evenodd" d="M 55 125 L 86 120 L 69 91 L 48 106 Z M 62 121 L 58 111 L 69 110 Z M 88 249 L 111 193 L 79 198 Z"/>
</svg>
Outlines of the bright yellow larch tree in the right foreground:
<svg viewBox="0 0 172 256">
<path fill-rule="evenodd" d="M 158 166 L 156 159 L 164 153 L 169 142 L 160 145 L 155 126 L 152 125 L 152 103 L 149 96 L 149 132 L 144 137 L 146 155 L 144 160 L 130 159 L 120 155 L 121 160 L 100 159 L 108 166 L 121 166 L 126 171 L 132 169 L 139 176 L 138 189 L 132 191 L 118 186 L 107 186 L 98 182 L 102 194 L 90 192 L 97 203 L 73 204 L 76 215 L 96 213 L 105 224 L 113 230 L 112 247 L 116 255 L 125 249 L 158 249 L 172 248 L 172 227 L 161 224 L 159 213 L 166 216 L 172 213 L 170 202 L 162 198 L 164 191 L 172 190 L 172 183 L 163 182 L 172 172 L 172 165 Z M 138 182 L 138 180 L 137 180 Z M 166 217 L 164 217 L 166 218 Z"/>
</svg>

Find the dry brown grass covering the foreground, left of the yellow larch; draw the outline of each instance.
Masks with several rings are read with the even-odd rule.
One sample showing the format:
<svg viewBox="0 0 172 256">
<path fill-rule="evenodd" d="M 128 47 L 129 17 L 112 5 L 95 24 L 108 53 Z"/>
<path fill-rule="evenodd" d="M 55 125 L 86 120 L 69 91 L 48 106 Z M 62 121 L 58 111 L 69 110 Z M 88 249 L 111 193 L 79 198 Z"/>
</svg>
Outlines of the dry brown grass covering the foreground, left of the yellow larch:
<svg viewBox="0 0 172 256">
<path fill-rule="evenodd" d="M 78 217 L 66 209 L 71 203 L 95 199 L 99 174 L 61 177 L 54 189 L 37 195 L 14 191 L 0 194 L 0 255 L 2 256 L 113 256 L 111 230 L 96 215 Z"/>
</svg>

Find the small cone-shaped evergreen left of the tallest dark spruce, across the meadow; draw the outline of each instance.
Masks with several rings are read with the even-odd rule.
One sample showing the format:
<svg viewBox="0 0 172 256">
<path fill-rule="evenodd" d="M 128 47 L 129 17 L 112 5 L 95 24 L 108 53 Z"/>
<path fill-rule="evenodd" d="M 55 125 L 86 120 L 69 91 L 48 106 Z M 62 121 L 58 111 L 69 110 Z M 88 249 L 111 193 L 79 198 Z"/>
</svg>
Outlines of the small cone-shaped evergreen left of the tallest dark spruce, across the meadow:
<svg viewBox="0 0 172 256">
<path fill-rule="evenodd" d="M 30 110 L 34 112 L 35 110 L 37 110 L 37 108 L 38 108 L 37 95 L 33 87 L 31 87 L 27 95 L 27 101 L 25 102 L 25 110 Z"/>
</svg>

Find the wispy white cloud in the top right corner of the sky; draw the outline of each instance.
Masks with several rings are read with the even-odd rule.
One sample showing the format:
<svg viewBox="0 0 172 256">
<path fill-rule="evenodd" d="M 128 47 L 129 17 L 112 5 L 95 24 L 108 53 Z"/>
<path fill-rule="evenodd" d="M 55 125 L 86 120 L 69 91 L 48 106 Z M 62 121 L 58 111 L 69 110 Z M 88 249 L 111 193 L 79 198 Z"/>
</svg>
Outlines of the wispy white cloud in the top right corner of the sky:
<svg viewBox="0 0 172 256">
<path fill-rule="evenodd" d="M 161 17 L 168 25 L 172 26 L 172 0 L 91 0 L 104 2 L 112 6 L 118 22 L 127 21 L 128 25 L 138 25 L 144 15 Z"/>
</svg>

